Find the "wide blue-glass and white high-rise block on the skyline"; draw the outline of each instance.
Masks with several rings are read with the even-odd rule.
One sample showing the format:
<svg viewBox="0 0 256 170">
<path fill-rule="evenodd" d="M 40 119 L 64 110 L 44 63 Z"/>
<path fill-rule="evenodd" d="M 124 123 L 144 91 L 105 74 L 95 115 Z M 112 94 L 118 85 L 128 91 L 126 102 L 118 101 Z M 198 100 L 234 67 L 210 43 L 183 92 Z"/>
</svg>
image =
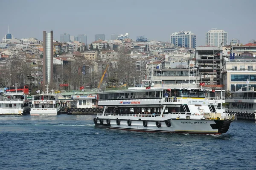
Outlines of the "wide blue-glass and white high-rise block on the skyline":
<svg viewBox="0 0 256 170">
<path fill-rule="evenodd" d="M 193 48 L 196 47 L 196 35 L 191 31 L 180 31 L 172 33 L 170 36 L 170 42 L 174 46 Z"/>
</svg>

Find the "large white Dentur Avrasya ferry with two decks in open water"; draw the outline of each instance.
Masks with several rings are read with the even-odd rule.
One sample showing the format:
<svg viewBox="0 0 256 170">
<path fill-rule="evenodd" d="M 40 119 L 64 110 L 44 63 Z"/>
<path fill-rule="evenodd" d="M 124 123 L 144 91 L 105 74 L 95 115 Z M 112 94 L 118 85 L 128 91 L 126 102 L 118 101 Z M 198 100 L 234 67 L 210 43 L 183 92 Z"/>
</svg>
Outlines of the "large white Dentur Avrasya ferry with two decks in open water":
<svg viewBox="0 0 256 170">
<path fill-rule="evenodd" d="M 142 132 L 221 134 L 236 120 L 235 113 L 225 113 L 222 107 L 224 91 L 197 89 L 192 84 L 175 86 L 101 92 L 98 106 L 104 106 L 104 110 L 93 119 L 95 126 Z"/>
</svg>

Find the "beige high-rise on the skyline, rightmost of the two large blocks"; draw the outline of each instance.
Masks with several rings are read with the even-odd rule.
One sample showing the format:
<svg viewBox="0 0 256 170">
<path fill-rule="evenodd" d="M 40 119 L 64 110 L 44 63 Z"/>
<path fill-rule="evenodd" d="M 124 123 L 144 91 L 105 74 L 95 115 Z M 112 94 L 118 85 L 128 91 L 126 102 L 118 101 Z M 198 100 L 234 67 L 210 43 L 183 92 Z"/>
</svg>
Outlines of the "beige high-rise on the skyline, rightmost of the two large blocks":
<svg viewBox="0 0 256 170">
<path fill-rule="evenodd" d="M 227 32 L 224 30 L 211 29 L 205 33 L 205 44 L 208 46 L 228 45 Z"/>
</svg>

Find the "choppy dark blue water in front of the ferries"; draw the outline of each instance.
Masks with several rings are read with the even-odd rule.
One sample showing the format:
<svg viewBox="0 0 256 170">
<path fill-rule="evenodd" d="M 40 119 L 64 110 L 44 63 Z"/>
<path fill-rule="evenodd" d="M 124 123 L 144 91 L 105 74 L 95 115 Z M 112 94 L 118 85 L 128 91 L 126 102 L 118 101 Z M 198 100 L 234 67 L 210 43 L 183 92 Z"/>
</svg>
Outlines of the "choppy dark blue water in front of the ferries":
<svg viewBox="0 0 256 170">
<path fill-rule="evenodd" d="M 94 115 L 0 116 L 1 170 L 255 170 L 256 123 L 223 135 L 96 128 Z"/>
</svg>

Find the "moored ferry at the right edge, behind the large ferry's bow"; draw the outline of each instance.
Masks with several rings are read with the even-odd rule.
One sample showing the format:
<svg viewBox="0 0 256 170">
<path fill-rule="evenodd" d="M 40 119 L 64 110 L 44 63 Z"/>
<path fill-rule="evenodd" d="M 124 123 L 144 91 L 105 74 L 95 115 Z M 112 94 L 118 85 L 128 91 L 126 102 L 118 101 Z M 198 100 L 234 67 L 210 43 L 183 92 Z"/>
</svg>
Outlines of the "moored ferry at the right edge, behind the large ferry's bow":
<svg viewBox="0 0 256 170">
<path fill-rule="evenodd" d="M 229 106 L 226 108 L 227 113 L 236 113 L 237 119 L 246 119 L 256 121 L 256 92 L 254 87 L 242 87 L 236 92 L 230 92 L 232 97 L 226 98 Z"/>
</svg>

